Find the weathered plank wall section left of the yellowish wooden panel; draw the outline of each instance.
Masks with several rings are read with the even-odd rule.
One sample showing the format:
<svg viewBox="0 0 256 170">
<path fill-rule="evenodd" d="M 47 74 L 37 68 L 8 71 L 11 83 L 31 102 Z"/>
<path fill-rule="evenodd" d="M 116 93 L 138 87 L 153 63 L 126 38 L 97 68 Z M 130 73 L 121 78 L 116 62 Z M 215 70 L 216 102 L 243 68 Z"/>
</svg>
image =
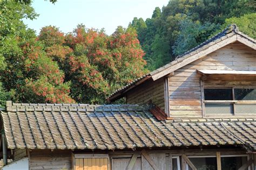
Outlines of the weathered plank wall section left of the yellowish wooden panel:
<svg viewBox="0 0 256 170">
<path fill-rule="evenodd" d="M 30 169 L 71 169 L 70 150 L 32 150 L 29 154 Z"/>
</svg>

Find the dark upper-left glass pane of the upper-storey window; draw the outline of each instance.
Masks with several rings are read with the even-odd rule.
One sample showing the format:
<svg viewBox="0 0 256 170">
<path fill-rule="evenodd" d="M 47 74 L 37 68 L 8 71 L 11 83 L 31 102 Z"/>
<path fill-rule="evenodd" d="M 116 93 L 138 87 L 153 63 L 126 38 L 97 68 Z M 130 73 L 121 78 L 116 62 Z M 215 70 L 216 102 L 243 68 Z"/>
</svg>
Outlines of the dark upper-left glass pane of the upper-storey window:
<svg viewBox="0 0 256 170">
<path fill-rule="evenodd" d="M 233 100 L 232 89 L 204 89 L 205 100 Z"/>
</svg>

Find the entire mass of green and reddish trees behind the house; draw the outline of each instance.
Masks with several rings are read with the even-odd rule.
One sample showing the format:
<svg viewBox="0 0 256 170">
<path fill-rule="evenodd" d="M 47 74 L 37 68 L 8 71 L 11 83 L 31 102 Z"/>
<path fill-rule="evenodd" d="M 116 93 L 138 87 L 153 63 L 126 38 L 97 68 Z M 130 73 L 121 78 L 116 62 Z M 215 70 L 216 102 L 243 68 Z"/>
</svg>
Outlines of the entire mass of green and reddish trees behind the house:
<svg viewBox="0 0 256 170">
<path fill-rule="evenodd" d="M 112 91 L 231 23 L 255 38 L 255 6 L 253 0 L 171 0 L 111 35 L 83 24 L 70 33 L 46 26 L 37 35 L 22 20 L 38 17 L 31 1 L 0 1 L 0 105 L 105 103 Z"/>
</svg>

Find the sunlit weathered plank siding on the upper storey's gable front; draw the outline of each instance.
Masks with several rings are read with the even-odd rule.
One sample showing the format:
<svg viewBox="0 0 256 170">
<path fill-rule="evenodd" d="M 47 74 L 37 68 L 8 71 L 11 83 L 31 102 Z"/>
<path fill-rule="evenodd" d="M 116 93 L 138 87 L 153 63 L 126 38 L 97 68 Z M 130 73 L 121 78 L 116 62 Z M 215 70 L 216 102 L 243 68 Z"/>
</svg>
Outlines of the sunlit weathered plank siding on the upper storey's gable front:
<svg viewBox="0 0 256 170">
<path fill-rule="evenodd" d="M 209 79 L 201 84 L 197 69 L 256 70 L 256 51 L 237 41 L 176 70 L 169 77 L 171 117 L 203 116 L 201 86 L 256 86 L 256 80 L 239 76 Z"/>
</svg>

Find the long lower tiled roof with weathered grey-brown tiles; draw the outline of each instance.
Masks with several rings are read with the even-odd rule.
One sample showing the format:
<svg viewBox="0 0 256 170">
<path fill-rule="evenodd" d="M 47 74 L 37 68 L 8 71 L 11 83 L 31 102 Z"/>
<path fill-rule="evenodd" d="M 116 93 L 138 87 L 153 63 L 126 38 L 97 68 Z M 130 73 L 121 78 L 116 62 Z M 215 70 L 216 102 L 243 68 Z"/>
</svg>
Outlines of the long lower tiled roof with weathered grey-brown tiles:
<svg viewBox="0 0 256 170">
<path fill-rule="evenodd" d="M 158 121 L 148 106 L 16 104 L 2 112 L 8 148 L 101 149 L 244 145 L 256 119 Z"/>
</svg>

